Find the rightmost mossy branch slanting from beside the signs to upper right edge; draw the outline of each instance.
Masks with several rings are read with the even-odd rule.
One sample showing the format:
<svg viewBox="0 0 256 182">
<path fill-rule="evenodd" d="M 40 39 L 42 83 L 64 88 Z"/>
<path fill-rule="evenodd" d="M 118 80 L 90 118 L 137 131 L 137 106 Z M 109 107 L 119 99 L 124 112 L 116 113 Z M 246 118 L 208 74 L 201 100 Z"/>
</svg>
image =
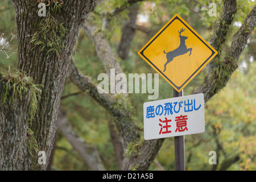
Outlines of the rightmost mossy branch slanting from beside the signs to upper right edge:
<svg viewBox="0 0 256 182">
<path fill-rule="evenodd" d="M 227 1 L 225 1 L 226 3 Z M 232 15 L 233 16 L 233 15 Z M 219 26 L 222 23 L 219 24 Z M 220 55 L 210 63 L 210 72 L 209 75 L 205 77 L 205 82 L 197 88 L 195 93 L 204 93 L 205 101 L 208 101 L 214 94 L 219 90 L 224 88 L 228 82 L 232 73 L 237 69 L 237 60 L 239 59 L 243 49 L 247 44 L 247 40 L 256 26 L 256 5 L 247 15 L 245 20 L 242 23 L 242 26 L 233 36 L 232 46 L 229 48 L 228 54 L 225 56 L 224 60 L 220 60 Z M 222 27 L 222 26 L 221 26 Z M 221 49 L 221 41 L 225 40 L 225 36 L 221 33 L 221 27 L 216 27 L 215 32 L 220 32 L 220 37 L 216 35 L 216 38 L 213 38 L 213 47 L 216 49 Z M 224 32 L 228 27 L 225 26 Z"/>
</svg>

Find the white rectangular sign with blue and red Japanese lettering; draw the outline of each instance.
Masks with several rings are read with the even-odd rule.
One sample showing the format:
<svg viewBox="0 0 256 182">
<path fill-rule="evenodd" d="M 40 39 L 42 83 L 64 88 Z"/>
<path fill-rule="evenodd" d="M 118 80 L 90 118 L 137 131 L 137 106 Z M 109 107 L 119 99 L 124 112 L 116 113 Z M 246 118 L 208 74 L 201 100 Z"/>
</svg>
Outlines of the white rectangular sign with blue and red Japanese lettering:
<svg viewBox="0 0 256 182">
<path fill-rule="evenodd" d="M 144 139 L 204 133 L 204 94 L 143 104 Z"/>
</svg>

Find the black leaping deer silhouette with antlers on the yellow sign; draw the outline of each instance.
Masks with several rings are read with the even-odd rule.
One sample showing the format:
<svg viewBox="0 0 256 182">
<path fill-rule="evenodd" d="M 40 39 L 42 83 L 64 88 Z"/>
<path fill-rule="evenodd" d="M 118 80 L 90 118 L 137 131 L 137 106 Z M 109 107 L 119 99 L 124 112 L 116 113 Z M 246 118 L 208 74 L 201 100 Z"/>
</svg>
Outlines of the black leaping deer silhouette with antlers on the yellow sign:
<svg viewBox="0 0 256 182">
<path fill-rule="evenodd" d="M 185 40 L 188 38 L 187 36 L 181 36 L 181 32 L 184 32 L 185 29 L 184 28 L 181 28 L 179 32 L 179 37 L 180 37 L 180 46 L 178 48 L 176 48 L 174 51 L 170 51 L 170 52 L 165 52 L 166 53 L 166 58 L 167 58 L 167 61 L 166 61 L 166 64 L 164 64 L 164 71 L 166 71 L 166 65 L 168 63 L 170 63 L 174 57 L 177 57 L 177 56 L 180 56 L 180 55 L 184 55 L 184 53 L 187 53 L 188 51 L 190 51 L 190 54 L 189 56 L 191 55 L 191 51 L 192 51 L 192 48 L 187 48 L 187 46 L 185 45 Z M 164 72 L 163 71 L 163 72 Z"/>
</svg>

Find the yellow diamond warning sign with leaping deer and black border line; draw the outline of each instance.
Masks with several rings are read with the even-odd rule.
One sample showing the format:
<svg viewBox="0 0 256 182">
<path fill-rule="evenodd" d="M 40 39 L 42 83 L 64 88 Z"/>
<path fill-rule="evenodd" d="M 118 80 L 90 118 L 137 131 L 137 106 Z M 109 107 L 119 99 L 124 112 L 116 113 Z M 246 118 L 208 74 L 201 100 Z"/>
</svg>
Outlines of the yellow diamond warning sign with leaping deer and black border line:
<svg viewBox="0 0 256 182">
<path fill-rule="evenodd" d="M 217 53 L 177 14 L 138 52 L 177 92 Z"/>
</svg>

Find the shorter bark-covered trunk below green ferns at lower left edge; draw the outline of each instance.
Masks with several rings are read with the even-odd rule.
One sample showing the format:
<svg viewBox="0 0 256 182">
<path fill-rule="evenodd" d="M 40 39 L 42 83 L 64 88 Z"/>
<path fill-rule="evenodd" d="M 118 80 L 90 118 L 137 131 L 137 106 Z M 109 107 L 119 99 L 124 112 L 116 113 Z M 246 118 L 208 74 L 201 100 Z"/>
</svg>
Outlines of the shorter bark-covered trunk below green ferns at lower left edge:
<svg viewBox="0 0 256 182">
<path fill-rule="evenodd" d="M 0 85 L 0 91 L 3 89 Z M 30 94 L 23 95 L 23 100 L 14 98 L 0 105 L 0 171 L 29 169 L 27 159 L 27 111 Z"/>
</svg>

